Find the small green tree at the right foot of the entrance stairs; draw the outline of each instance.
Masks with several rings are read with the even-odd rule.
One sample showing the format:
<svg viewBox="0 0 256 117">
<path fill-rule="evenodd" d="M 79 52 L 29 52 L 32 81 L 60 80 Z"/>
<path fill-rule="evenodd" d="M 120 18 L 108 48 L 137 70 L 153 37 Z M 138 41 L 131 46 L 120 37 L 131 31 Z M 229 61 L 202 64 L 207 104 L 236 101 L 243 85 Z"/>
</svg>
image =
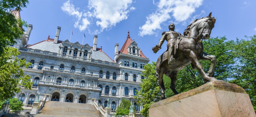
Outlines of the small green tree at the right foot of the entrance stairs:
<svg viewBox="0 0 256 117">
<path fill-rule="evenodd" d="M 120 105 L 117 106 L 115 114 L 116 115 L 129 115 L 131 102 L 130 100 L 122 99 Z M 133 107 L 135 112 L 135 107 Z"/>
</svg>

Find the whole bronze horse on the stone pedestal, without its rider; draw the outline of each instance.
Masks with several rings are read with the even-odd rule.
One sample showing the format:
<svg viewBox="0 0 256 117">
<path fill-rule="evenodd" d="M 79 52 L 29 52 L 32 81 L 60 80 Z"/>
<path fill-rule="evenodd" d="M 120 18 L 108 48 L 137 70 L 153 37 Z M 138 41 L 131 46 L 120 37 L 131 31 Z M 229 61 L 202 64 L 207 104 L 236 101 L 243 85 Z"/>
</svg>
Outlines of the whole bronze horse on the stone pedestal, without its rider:
<svg viewBox="0 0 256 117">
<path fill-rule="evenodd" d="M 185 29 L 182 37 L 177 39 L 176 43 L 179 43 L 177 51 L 175 53 L 176 62 L 171 66 L 168 65 L 168 61 L 164 60 L 164 56 L 167 53 L 163 53 L 159 56 L 156 62 L 156 77 L 158 80 L 158 85 L 161 90 L 161 100 L 165 99 L 165 87 L 163 83 L 163 74 L 171 78 L 171 90 L 174 94 L 179 94 L 175 89 L 175 83 L 177 81 L 177 71 L 185 68 L 192 63 L 196 69 L 199 70 L 203 76 L 205 82 L 211 82 L 217 80 L 211 77 L 214 72 L 216 57 L 204 52 L 204 47 L 201 39 L 209 39 L 211 30 L 214 27 L 216 18 L 209 16 L 201 19 L 194 20 L 187 29 Z M 205 73 L 199 60 L 210 60 L 211 66 L 208 73 Z"/>
</svg>

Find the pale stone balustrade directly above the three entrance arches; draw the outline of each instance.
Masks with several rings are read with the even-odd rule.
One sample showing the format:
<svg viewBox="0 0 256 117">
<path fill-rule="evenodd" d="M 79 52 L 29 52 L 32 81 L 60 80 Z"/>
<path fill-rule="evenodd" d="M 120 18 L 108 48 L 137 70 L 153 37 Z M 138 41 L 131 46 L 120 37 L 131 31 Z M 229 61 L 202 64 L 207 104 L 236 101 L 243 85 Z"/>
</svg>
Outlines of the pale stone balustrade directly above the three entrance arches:
<svg viewBox="0 0 256 117">
<path fill-rule="evenodd" d="M 81 85 L 67 84 L 67 83 L 54 83 L 54 82 L 40 81 L 40 84 L 47 84 L 47 85 L 53 85 L 53 86 L 65 86 L 65 87 L 75 87 L 75 88 L 84 88 L 84 89 L 96 89 L 96 90 L 100 90 L 100 87 L 81 86 Z"/>
</svg>

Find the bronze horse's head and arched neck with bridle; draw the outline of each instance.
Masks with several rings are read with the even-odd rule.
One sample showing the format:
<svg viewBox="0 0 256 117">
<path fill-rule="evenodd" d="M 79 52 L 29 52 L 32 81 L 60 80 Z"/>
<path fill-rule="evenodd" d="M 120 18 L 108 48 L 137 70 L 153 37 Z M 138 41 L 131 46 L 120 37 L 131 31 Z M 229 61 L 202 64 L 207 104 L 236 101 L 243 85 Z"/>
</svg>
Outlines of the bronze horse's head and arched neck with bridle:
<svg viewBox="0 0 256 117">
<path fill-rule="evenodd" d="M 209 39 L 211 31 L 214 27 L 216 18 L 211 17 L 211 14 L 205 18 L 196 19 L 187 29 L 185 29 L 183 36 L 193 37 L 195 39 Z"/>
</svg>

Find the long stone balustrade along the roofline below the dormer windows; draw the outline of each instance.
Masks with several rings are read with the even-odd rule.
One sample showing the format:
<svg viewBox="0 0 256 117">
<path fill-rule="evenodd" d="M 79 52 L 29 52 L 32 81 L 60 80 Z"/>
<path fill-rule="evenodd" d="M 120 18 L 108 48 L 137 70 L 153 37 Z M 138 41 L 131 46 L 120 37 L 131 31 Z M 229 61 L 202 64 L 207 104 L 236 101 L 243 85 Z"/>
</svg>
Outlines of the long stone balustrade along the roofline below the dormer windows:
<svg viewBox="0 0 256 117">
<path fill-rule="evenodd" d="M 116 63 L 111 63 L 107 61 L 98 61 L 98 60 L 93 60 L 93 59 L 85 59 L 82 57 L 75 57 L 75 56 L 69 56 L 69 55 L 63 55 L 59 53 L 53 53 L 53 52 L 47 52 L 43 50 L 36 50 L 36 49 L 31 49 L 31 48 L 20 48 L 21 51 L 27 51 L 27 52 L 33 52 L 33 53 L 40 53 L 40 54 L 46 54 L 46 55 L 51 55 L 51 56 L 59 56 L 59 57 L 65 57 L 65 58 L 70 58 L 70 59 L 76 59 L 76 60 L 81 60 L 81 61 L 90 61 L 93 63 L 99 63 L 99 64 L 106 64 L 110 66 L 119 66 L 119 64 Z"/>
</svg>

